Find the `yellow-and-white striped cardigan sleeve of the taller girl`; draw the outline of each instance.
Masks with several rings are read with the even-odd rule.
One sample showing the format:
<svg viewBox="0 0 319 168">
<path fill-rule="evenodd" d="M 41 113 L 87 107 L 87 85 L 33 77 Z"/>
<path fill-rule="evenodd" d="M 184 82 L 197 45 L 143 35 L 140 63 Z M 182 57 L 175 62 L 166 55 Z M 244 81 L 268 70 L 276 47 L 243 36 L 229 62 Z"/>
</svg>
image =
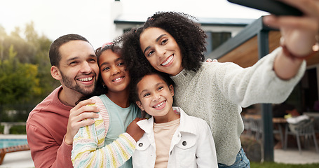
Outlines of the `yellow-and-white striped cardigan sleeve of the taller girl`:
<svg viewBox="0 0 319 168">
<path fill-rule="evenodd" d="M 120 167 L 135 151 L 136 142 L 128 133 L 120 134 L 116 141 L 104 146 L 104 124 L 99 116 L 95 124 L 81 127 L 74 137 L 74 167 Z"/>
</svg>

